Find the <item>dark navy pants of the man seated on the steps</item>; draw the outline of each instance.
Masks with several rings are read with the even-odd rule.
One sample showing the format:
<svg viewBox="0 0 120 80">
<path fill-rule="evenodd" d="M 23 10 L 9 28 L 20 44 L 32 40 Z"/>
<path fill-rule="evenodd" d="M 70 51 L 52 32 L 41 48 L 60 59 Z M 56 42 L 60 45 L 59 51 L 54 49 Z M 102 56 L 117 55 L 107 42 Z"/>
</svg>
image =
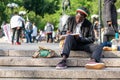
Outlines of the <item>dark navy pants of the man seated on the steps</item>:
<svg viewBox="0 0 120 80">
<path fill-rule="evenodd" d="M 67 36 L 65 40 L 65 44 L 63 47 L 63 51 L 61 56 L 66 55 L 69 57 L 70 50 L 80 50 L 92 53 L 91 59 L 95 59 L 96 62 L 100 62 L 101 54 L 102 54 L 102 46 L 97 44 L 83 44 L 80 43 L 79 40 L 76 40 L 74 36 Z"/>
</svg>

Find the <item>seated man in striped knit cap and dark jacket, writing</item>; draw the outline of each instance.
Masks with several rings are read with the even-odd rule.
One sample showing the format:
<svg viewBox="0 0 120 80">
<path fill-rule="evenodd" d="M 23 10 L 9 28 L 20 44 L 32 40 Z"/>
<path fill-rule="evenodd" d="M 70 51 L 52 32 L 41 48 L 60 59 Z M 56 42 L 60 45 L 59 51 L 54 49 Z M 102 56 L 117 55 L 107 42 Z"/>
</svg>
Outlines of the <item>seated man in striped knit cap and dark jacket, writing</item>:
<svg viewBox="0 0 120 80">
<path fill-rule="evenodd" d="M 90 62 L 85 65 L 86 68 L 104 68 L 104 63 L 100 63 L 103 47 L 101 45 L 93 44 L 95 41 L 94 30 L 92 23 L 86 19 L 87 16 L 87 9 L 85 7 L 81 7 L 77 9 L 76 16 L 68 18 L 68 35 L 65 38 L 65 43 L 61 53 L 63 59 L 57 64 L 56 69 L 67 68 L 66 62 L 69 57 L 70 50 L 81 50 L 92 53 Z M 79 35 L 71 35 L 75 33 L 79 33 Z"/>
</svg>

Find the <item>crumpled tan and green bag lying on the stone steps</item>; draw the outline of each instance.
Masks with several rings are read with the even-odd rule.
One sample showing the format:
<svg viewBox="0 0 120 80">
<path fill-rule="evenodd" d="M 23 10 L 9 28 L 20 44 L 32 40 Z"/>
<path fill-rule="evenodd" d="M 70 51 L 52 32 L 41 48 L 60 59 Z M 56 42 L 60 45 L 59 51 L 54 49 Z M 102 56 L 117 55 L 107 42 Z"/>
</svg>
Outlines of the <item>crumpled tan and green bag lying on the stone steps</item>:
<svg viewBox="0 0 120 80">
<path fill-rule="evenodd" d="M 43 57 L 43 58 L 51 58 L 55 56 L 55 51 L 52 49 L 48 49 L 45 47 L 39 47 L 39 50 L 37 50 L 33 54 L 33 58 Z"/>
</svg>

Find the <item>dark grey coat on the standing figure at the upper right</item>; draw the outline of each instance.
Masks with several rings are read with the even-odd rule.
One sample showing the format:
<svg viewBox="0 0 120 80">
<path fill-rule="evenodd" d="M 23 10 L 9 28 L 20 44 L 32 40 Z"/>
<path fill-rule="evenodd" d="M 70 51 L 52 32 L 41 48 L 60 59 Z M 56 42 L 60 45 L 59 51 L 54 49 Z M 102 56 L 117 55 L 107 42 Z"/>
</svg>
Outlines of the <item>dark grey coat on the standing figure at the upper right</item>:
<svg viewBox="0 0 120 80">
<path fill-rule="evenodd" d="M 104 0 L 103 5 L 103 23 L 104 27 L 108 27 L 107 21 L 112 21 L 112 25 L 116 31 L 118 31 L 117 25 L 117 11 L 115 2 L 117 0 Z"/>
</svg>

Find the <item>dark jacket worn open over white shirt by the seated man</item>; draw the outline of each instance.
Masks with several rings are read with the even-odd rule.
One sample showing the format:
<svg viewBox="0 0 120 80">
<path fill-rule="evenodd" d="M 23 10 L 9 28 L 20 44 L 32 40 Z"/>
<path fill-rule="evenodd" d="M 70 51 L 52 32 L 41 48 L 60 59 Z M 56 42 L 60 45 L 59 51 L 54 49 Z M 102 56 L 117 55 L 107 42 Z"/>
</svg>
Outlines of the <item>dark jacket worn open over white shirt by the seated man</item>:
<svg viewBox="0 0 120 80">
<path fill-rule="evenodd" d="M 75 21 L 75 17 L 69 17 L 67 21 L 68 30 L 73 33 L 74 30 L 76 29 L 76 25 L 77 23 Z M 93 43 L 95 41 L 92 23 L 87 19 L 85 19 L 84 22 L 82 23 L 81 34 L 82 34 L 82 38 L 80 38 L 81 43 L 88 44 Z"/>
</svg>

